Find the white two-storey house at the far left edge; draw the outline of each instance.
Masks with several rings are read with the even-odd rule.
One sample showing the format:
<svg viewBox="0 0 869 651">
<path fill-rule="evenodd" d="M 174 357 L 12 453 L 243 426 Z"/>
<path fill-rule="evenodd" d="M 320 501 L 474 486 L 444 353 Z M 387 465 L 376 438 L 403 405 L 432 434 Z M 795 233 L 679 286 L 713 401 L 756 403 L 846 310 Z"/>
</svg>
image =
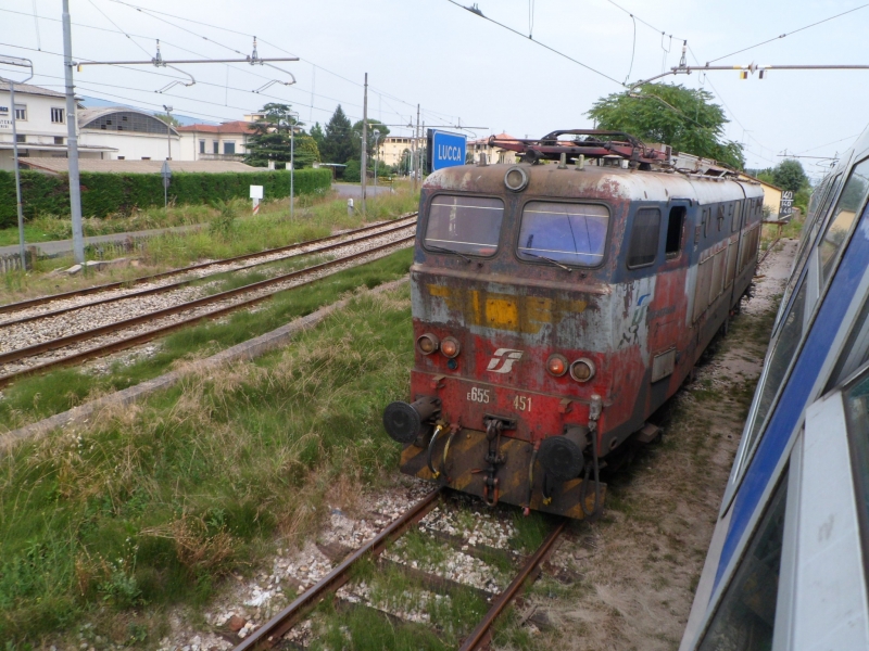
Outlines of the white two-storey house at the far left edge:
<svg viewBox="0 0 869 651">
<path fill-rule="evenodd" d="M 0 169 L 13 169 L 12 111 L 18 136 L 18 156 L 66 157 L 66 99 L 63 93 L 15 85 L 15 106 L 11 105 L 9 84 L 0 81 Z M 103 142 L 80 142 L 81 158 L 111 157 L 115 148 Z"/>
</svg>

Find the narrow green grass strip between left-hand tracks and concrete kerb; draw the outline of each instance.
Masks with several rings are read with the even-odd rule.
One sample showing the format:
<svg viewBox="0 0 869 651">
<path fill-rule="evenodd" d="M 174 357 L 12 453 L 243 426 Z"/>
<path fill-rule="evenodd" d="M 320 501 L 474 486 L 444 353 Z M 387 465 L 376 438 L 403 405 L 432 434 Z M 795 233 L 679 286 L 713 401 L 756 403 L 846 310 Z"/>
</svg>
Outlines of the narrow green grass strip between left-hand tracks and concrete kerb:
<svg viewBox="0 0 869 651">
<path fill-rule="evenodd" d="M 358 288 L 374 288 L 407 273 L 413 251 L 402 250 L 361 267 L 347 269 L 311 285 L 288 290 L 256 311 L 238 311 L 225 322 L 205 322 L 162 340 L 160 350 L 129 366 L 116 362 L 106 374 L 59 369 L 43 375 L 25 378 L 3 391 L 0 400 L 0 430 L 15 429 L 80 405 L 89 397 L 127 388 L 167 372 L 178 360 L 192 359 L 228 348 L 259 336 L 288 321 L 308 315 Z M 251 282 L 248 275 L 245 282 Z M 223 281 L 231 289 L 238 277 Z"/>
</svg>

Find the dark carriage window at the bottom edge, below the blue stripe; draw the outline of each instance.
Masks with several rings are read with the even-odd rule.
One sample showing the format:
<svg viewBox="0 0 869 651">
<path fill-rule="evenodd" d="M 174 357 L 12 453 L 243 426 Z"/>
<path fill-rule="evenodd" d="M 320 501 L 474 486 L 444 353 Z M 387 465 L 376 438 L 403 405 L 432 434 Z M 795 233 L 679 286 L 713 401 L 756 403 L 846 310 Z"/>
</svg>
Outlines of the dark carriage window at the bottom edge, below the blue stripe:
<svg viewBox="0 0 869 651">
<path fill-rule="evenodd" d="M 698 651 L 766 651 L 772 648 L 788 501 L 788 472 L 782 475 Z"/>
</svg>

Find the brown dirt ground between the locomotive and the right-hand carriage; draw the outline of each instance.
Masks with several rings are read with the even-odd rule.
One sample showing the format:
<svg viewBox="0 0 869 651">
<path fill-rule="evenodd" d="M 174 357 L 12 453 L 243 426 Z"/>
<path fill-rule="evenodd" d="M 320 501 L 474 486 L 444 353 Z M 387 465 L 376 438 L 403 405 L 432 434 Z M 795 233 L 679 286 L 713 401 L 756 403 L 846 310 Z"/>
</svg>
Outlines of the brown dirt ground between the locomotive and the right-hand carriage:
<svg viewBox="0 0 869 651">
<path fill-rule="evenodd" d="M 533 647 L 679 647 L 796 244 L 758 269 L 754 298 L 659 414 L 662 443 L 609 480 L 603 518 L 564 537 L 514 624 L 532 624 Z"/>
</svg>

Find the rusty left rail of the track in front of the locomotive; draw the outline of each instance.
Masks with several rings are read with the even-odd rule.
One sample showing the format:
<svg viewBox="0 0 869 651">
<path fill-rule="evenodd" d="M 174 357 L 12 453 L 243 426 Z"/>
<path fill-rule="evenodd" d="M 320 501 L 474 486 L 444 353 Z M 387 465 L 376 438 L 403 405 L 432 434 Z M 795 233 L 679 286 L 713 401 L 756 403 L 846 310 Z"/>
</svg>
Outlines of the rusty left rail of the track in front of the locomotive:
<svg viewBox="0 0 869 651">
<path fill-rule="evenodd" d="M 340 565 L 319 579 L 317 585 L 306 590 L 302 596 L 298 597 L 295 601 L 252 633 L 249 638 L 236 647 L 235 651 L 253 651 L 254 649 L 272 648 L 284 634 L 307 615 L 324 597 L 337 591 L 350 580 L 350 569 L 360 559 L 368 554 L 373 557 L 379 556 L 386 549 L 387 545 L 401 537 L 404 532 L 423 520 L 423 518 L 434 508 L 441 490 L 442 488 L 438 488 L 429 493 L 425 498 L 380 532 L 376 538 L 373 538 L 344 559 Z"/>
</svg>

